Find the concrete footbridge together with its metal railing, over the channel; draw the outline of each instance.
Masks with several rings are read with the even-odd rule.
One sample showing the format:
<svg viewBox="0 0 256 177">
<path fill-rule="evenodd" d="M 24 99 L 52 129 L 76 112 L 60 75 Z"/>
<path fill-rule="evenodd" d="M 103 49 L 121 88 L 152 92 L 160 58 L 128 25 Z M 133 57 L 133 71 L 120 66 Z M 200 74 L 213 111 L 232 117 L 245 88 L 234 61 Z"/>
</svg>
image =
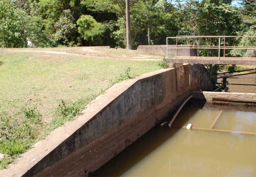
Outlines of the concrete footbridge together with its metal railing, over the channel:
<svg viewBox="0 0 256 177">
<path fill-rule="evenodd" d="M 166 37 L 166 59 L 169 63 L 195 63 L 195 64 L 216 64 L 216 65 L 256 65 L 256 57 L 245 55 L 246 57 L 225 57 L 226 50 L 246 50 L 255 52 L 256 46 L 231 46 L 228 45 L 228 39 L 256 39 L 256 36 L 176 36 Z M 172 42 L 176 40 L 176 45 L 168 45 L 168 40 Z M 200 41 L 215 41 L 215 43 L 207 44 Z M 218 42 L 217 42 L 218 41 Z M 187 55 L 183 50 L 194 50 Z M 197 56 L 199 50 L 213 51 L 214 57 Z M 218 53 L 216 52 L 218 50 Z M 192 55 L 191 55 L 192 54 Z M 221 57 L 222 56 L 222 57 Z M 249 56 L 249 57 L 248 57 Z"/>
</svg>

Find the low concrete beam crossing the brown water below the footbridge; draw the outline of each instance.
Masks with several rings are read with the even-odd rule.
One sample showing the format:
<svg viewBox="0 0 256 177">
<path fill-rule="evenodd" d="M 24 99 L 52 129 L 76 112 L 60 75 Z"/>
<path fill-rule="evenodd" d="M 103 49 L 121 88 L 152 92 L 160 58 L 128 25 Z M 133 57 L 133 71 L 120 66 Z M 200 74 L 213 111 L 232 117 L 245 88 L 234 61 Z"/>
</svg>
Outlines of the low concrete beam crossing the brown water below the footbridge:
<svg viewBox="0 0 256 177">
<path fill-rule="evenodd" d="M 246 102 L 256 103 L 255 93 L 233 92 L 191 92 L 193 98 L 206 100 L 207 102 Z"/>
</svg>

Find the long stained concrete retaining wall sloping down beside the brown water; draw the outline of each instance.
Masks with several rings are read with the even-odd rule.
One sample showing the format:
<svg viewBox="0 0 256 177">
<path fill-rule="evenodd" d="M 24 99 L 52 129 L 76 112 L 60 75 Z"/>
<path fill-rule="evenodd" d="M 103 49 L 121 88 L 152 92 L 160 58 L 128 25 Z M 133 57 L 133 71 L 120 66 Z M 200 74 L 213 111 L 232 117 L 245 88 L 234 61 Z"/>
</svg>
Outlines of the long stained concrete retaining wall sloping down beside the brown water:
<svg viewBox="0 0 256 177">
<path fill-rule="evenodd" d="M 0 176 L 87 176 L 175 111 L 190 87 L 211 85 L 195 69 L 183 65 L 114 85 Z"/>
</svg>

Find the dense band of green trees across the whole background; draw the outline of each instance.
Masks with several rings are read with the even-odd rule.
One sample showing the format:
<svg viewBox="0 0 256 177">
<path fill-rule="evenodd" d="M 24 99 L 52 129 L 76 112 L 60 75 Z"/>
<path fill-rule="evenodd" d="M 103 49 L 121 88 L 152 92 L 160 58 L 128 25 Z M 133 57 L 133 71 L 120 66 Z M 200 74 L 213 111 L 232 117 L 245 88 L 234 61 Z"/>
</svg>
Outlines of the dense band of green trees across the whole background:
<svg viewBox="0 0 256 177">
<path fill-rule="evenodd" d="M 256 1 L 232 2 L 130 0 L 132 46 L 164 44 L 167 36 L 175 35 L 256 35 Z M 0 0 L 0 47 L 27 47 L 30 39 L 37 47 L 124 48 L 125 33 L 125 0 Z M 218 41 L 201 42 L 215 45 Z M 248 42 L 227 41 L 230 45 Z"/>
</svg>

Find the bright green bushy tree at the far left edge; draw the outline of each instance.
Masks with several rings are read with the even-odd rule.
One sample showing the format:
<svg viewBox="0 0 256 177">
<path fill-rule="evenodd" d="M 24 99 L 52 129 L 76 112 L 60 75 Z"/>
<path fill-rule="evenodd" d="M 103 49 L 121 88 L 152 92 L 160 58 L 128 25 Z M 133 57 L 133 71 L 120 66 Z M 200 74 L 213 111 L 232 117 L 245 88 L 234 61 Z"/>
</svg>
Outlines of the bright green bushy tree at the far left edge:
<svg viewBox="0 0 256 177">
<path fill-rule="evenodd" d="M 28 47 L 28 39 L 38 47 L 49 46 L 40 25 L 41 19 L 28 15 L 25 10 L 17 7 L 17 2 L 15 5 L 10 0 L 0 0 L 0 47 Z"/>
</svg>

